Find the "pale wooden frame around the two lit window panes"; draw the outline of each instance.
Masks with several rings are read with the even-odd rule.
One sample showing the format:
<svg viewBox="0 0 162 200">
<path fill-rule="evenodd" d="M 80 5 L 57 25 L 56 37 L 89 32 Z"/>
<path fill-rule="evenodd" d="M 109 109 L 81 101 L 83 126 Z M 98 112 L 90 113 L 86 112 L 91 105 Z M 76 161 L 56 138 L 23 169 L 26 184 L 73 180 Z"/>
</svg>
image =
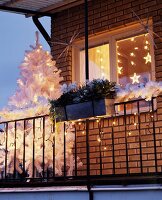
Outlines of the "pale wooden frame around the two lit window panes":
<svg viewBox="0 0 162 200">
<path fill-rule="evenodd" d="M 145 22 L 144 22 L 145 23 Z M 148 24 L 152 25 L 152 20 L 149 20 Z M 118 83 L 117 73 L 117 51 L 116 42 L 118 40 L 135 37 L 138 35 L 145 34 L 146 31 L 142 30 L 140 23 L 126 26 L 114 31 L 107 31 L 94 36 L 89 37 L 89 48 L 97 47 L 103 44 L 109 44 L 109 62 L 110 62 L 110 81 Z M 84 39 L 80 39 L 74 42 L 72 46 L 72 81 L 81 83 L 80 73 L 80 51 L 84 48 Z M 151 62 L 151 80 L 155 80 L 155 56 L 154 56 L 154 45 L 151 44 L 150 54 L 152 58 Z M 78 67 L 79 66 L 79 67 Z M 114 67 L 116 66 L 116 67 Z"/>
</svg>

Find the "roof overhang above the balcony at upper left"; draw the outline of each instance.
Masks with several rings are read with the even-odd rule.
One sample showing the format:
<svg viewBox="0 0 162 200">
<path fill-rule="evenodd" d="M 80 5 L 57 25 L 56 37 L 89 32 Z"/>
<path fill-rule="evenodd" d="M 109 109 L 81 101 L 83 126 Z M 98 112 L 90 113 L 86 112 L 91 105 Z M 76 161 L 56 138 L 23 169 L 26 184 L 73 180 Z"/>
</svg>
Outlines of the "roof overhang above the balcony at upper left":
<svg viewBox="0 0 162 200">
<path fill-rule="evenodd" d="M 64 9 L 82 4 L 84 0 L 1 0 L 0 10 L 26 16 L 52 16 Z"/>
</svg>

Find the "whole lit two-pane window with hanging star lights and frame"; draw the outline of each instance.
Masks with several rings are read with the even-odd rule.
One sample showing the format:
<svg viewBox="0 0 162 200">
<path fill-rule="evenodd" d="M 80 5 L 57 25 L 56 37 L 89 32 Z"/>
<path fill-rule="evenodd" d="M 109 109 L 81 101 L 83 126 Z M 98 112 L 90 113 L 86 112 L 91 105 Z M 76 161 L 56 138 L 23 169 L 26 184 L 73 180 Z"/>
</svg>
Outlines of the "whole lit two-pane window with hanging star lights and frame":
<svg viewBox="0 0 162 200">
<path fill-rule="evenodd" d="M 125 87 L 154 80 L 153 41 L 139 26 L 89 38 L 89 80 L 106 78 Z M 85 82 L 84 40 L 73 48 L 73 81 Z"/>
</svg>

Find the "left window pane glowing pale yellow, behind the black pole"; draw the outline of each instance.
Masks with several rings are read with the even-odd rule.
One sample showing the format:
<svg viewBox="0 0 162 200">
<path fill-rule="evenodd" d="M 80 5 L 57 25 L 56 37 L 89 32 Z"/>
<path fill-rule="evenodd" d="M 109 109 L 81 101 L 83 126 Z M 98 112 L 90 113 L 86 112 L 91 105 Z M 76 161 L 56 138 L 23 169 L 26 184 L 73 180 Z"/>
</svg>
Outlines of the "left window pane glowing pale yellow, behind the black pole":
<svg viewBox="0 0 162 200">
<path fill-rule="evenodd" d="M 85 81 L 85 50 L 80 51 L 80 76 Z M 110 80 L 109 44 L 89 49 L 89 80 L 107 78 Z"/>
</svg>

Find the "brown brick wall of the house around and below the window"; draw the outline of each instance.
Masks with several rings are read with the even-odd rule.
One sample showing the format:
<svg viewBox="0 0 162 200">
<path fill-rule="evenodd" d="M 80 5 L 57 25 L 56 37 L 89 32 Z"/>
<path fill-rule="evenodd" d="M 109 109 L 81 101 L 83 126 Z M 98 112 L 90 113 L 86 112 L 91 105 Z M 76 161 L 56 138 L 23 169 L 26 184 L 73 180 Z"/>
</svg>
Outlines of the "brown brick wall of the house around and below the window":
<svg viewBox="0 0 162 200">
<path fill-rule="evenodd" d="M 133 9 L 141 19 L 148 16 L 153 21 L 153 31 L 162 37 L 162 1 L 161 0 L 92 0 L 89 2 L 89 37 L 101 34 L 103 32 L 117 30 L 125 26 L 137 24 L 139 21 L 133 16 Z M 72 51 L 69 49 L 68 54 L 60 54 L 65 46 L 56 44 L 57 40 L 61 42 L 70 41 L 74 32 L 80 32 L 79 39 L 84 38 L 84 5 L 80 5 L 60 13 L 52 18 L 51 51 L 54 59 L 57 61 L 57 67 L 62 70 L 62 76 L 65 82 L 72 81 Z M 154 42 L 157 48 L 155 52 L 155 76 L 156 80 L 162 80 L 162 40 L 154 35 Z M 158 172 L 162 170 L 162 100 L 158 100 L 158 111 L 156 113 L 156 146 L 157 146 L 157 163 Z M 153 142 L 152 125 L 148 121 L 148 113 L 140 115 L 141 136 L 139 139 L 138 128 L 131 124 L 131 118 L 127 117 L 127 128 L 129 127 L 132 134 L 125 135 L 124 119 L 122 116 L 117 118 L 116 124 L 112 125 L 112 118 L 104 119 L 103 140 L 102 144 L 97 141 L 99 134 L 98 122 L 90 123 L 90 162 L 92 175 L 100 174 L 100 157 L 102 157 L 103 174 L 122 174 L 127 172 L 126 168 L 126 148 L 128 154 L 128 172 L 141 172 L 141 160 L 143 172 L 155 172 L 155 143 Z M 137 120 L 138 121 L 138 120 Z M 148 128 L 149 126 L 149 128 Z M 77 149 L 78 155 L 84 165 L 81 174 L 86 173 L 86 143 L 84 126 L 77 126 Z M 113 132 L 112 132 L 113 129 Z M 112 135 L 114 139 L 112 139 Z M 113 140 L 113 141 L 112 141 Z M 127 141 L 126 141 L 127 140 Z M 140 142 L 141 140 L 141 142 Z M 104 144 L 103 144 L 104 143 Z M 127 145 L 127 147 L 126 147 Z M 141 149 L 140 150 L 140 145 Z M 104 147 L 106 146 L 106 149 Z M 112 149 L 113 148 L 113 149 Z M 101 155 L 100 155 L 101 150 Z M 142 151 L 142 158 L 140 157 Z M 113 160 L 114 153 L 114 160 Z M 114 161 L 114 168 L 113 168 Z"/>
</svg>

